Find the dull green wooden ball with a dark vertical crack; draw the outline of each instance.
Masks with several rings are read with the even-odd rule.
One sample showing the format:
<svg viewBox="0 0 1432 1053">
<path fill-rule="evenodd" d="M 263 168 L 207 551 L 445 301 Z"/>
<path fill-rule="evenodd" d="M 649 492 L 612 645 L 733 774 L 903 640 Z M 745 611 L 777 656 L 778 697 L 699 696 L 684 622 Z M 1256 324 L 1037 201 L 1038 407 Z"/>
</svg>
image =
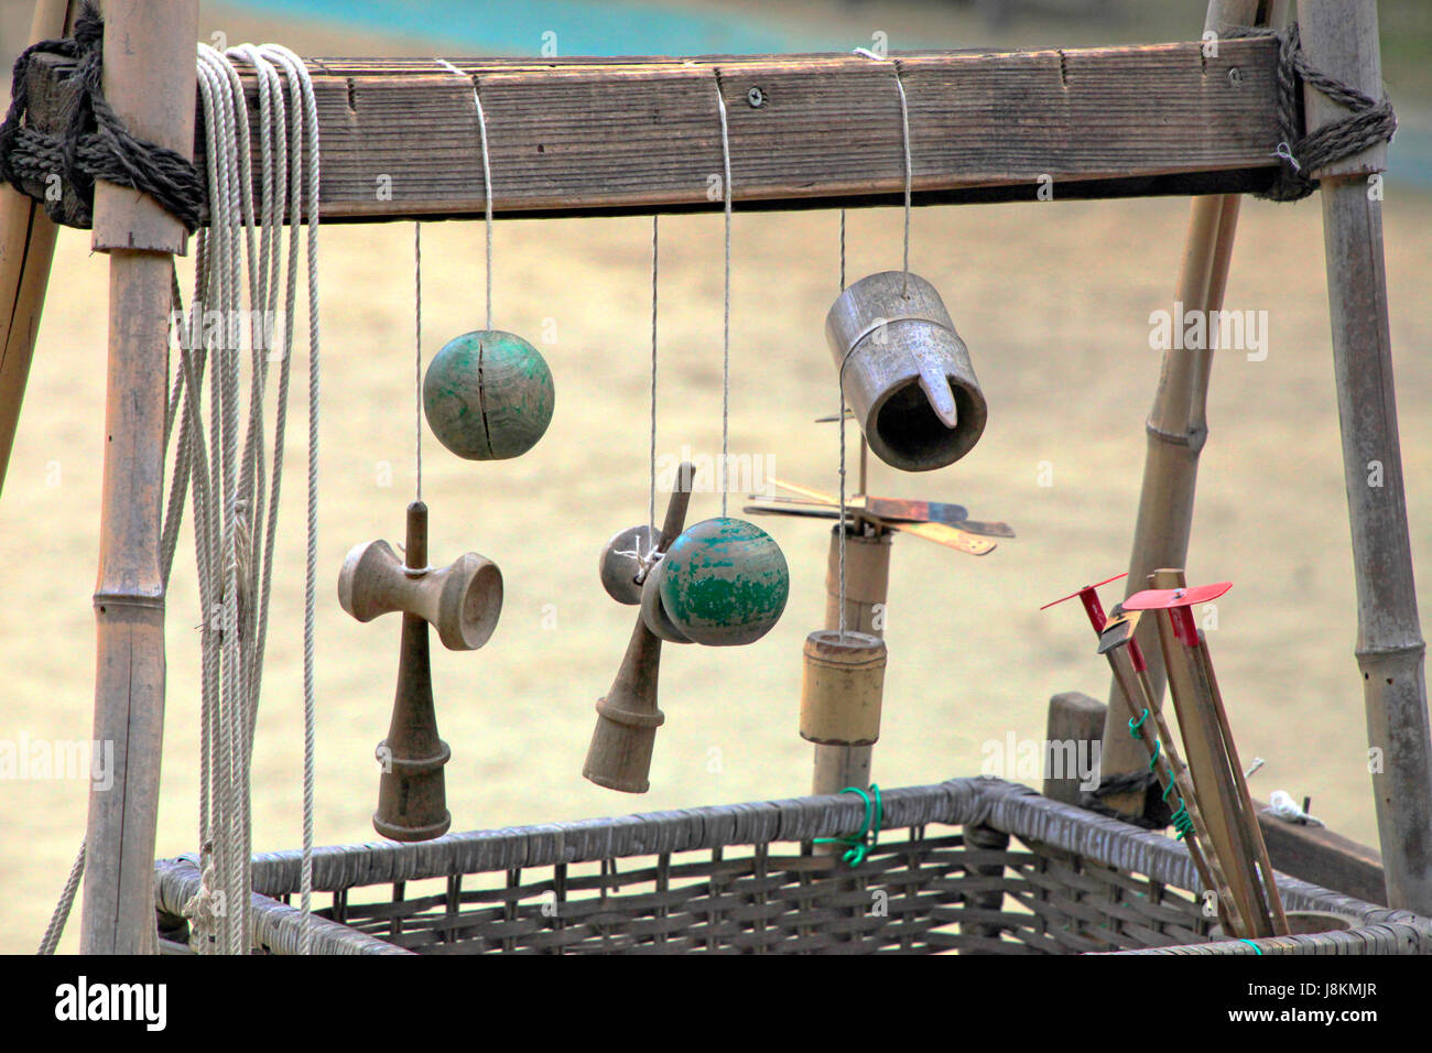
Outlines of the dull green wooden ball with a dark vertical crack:
<svg viewBox="0 0 1432 1053">
<path fill-rule="evenodd" d="M 526 340 L 501 330 L 448 341 L 422 378 L 428 427 L 470 461 L 521 457 L 547 431 L 556 401 L 547 361 Z"/>
</svg>

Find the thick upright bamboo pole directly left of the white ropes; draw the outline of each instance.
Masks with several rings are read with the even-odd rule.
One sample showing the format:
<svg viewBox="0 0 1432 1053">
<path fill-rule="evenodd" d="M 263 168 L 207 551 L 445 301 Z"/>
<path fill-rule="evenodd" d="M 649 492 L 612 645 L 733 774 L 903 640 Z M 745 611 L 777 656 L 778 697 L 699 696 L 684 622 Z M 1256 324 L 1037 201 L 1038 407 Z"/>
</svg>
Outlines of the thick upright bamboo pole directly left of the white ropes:
<svg viewBox="0 0 1432 1053">
<path fill-rule="evenodd" d="M 189 156 L 198 0 L 105 3 L 105 97 L 130 132 Z M 159 572 L 172 254 L 183 226 L 145 195 L 95 186 L 96 251 L 110 254 L 105 481 L 95 590 L 95 739 L 115 785 L 90 791 L 84 954 L 156 950 L 153 865 L 165 711 Z"/>
</svg>

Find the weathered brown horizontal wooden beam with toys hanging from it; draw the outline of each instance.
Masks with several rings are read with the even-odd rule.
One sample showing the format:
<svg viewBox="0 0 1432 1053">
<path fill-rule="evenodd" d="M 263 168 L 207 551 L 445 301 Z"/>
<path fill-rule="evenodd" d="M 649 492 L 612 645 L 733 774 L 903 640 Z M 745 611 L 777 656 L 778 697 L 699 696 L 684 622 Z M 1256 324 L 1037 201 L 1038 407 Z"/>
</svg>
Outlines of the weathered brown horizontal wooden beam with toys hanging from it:
<svg viewBox="0 0 1432 1053">
<path fill-rule="evenodd" d="M 1217 57 L 1199 42 L 898 56 L 915 201 L 1034 201 L 1041 176 L 1055 201 L 1267 186 L 1276 56 L 1256 39 Z M 308 60 L 325 222 L 481 215 L 474 83 L 498 215 L 719 209 L 717 83 L 742 208 L 892 203 L 904 189 L 889 62 L 450 62 L 465 76 L 430 59 Z"/>
</svg>

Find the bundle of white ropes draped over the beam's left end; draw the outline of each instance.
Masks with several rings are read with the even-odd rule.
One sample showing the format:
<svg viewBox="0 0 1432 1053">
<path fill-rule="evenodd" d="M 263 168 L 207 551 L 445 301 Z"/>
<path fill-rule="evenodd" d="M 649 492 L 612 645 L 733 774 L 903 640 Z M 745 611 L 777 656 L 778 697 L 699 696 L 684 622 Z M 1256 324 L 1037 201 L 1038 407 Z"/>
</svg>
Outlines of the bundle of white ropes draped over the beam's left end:
<svg viewBox="0 0 1432 1053">
<path fill-rule="evenodd" d="M 253 67 L 259 95 L 261 195 L 255 206 L 248 106 L 231 60 Z M 243 954 L 249 946 L 253 732 L 258 715 L 268 606 L 272 589 L 284 440 L 298 308 L 301 221 L 308 229 L 309 450 L 308 559 L 304 609 L 304 878 L 302 950 L 311 948 L 314 812 L 314 603 L 316 586 L 318 456 L 318 115 L 306 67 L 292 52 L 245 44 L 219 54 L 199 46 L 199 96 L 209 159 L 209 226 L 199 234 L 190 325 L 180 334 L 180 372 L 173 413 L 182 418 L 166 540 L 176 530 L 176 493 L 193 486 L 195 546 L 203 606 L 200 874 L 199 894 L 185 908 L 200 953 Z M 281 73 L 282 70 L 282 73 Z M 288 86 L 285 99 L 285 82 Z M 289 119 L 289 109 L 294 110 Z M 306 138 L 306 152 L 305 152 Z M 285 178 L 286 176 L 286 178 Z M 306 215 L 304 198 L 308 198 Z M 284 269 L 284 216 L 291 215 L 288 281 L 279 367 L 272 471 L 265 487 L 263 401 L 274 312 Z M 245 268 L 246 264 L 246 268 Z M 245 281 L 246 277 L 246 281 Z M 249 309 L 249 411 L 238 441 L 242 387 L 242 315 Z M 178 302 L 178 294 L 176 294 Z M 205 324 L 216 311 L 221 325 Z M 200 335 L 202 334 L 202 335 Z M 196 337 L 199 337 L 196 340 Z M 209 450 L 205 457 L 199 398 L 205 365 L 211 387 Z M 182 393 L 182 400 L 178 395 Z M 263 524 L 262 536 L 258 524 Z M 222 617 L 216 619 L 216 612 Z"/>
</svg>

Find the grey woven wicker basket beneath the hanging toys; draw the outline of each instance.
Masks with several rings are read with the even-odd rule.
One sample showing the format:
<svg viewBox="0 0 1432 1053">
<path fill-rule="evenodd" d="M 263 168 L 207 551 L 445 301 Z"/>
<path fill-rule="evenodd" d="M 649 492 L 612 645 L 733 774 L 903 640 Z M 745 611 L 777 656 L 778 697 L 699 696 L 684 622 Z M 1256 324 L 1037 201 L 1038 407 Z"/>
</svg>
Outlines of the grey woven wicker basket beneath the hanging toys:
<svg viewBox="0 0 1432 1053">
<path fill-rule="evenodd" d="M 314 890 L 332 898 L 314 951 L 1432 953 L 1432 921 L 1282 874 L 1289 910 L 1350 930 L 1210 941 L 1181 844 L 1012 782 L 891 789 L 884 807 L 856 868 L 811 844 L 861 828 L 853 794 L 318 848 Z M 299 871 L 296 851 L 255 857 L 255 950 L 296 953 Z M 156 864 L 162 914 L 198 888 L 192 857 Z"/>
</svg>

